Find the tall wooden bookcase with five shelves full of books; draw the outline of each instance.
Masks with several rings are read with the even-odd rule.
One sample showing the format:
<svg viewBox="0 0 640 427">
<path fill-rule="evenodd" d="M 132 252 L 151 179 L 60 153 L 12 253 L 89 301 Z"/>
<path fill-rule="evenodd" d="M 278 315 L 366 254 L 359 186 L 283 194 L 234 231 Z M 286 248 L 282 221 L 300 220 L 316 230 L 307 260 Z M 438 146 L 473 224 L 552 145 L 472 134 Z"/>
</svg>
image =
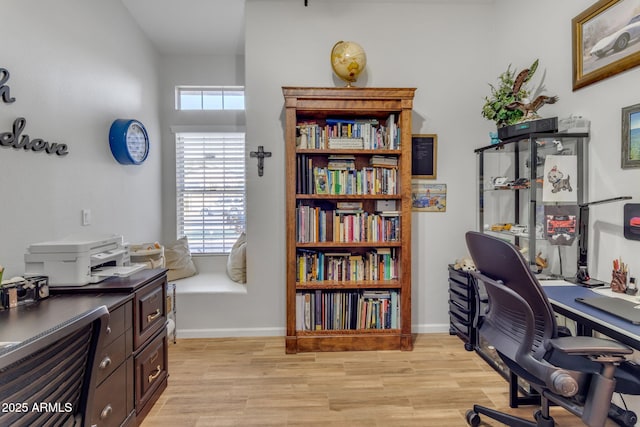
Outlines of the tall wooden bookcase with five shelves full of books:
<svg viewBox="0 0 640 427">
<path fill-rule="evenodd" d="M 414 93 L 283 87 L 287 353 L 413 348 Z"/>
</svg>

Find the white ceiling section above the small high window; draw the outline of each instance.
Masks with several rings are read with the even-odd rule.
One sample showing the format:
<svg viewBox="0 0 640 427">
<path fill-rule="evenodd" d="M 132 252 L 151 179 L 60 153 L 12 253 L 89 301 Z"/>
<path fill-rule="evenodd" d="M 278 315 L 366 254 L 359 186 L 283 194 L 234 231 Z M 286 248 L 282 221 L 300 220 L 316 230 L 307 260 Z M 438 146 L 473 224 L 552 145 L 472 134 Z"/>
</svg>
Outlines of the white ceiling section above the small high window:
<svg viewBox="0 0 640 427">
<path fill-rule="evenodd" d="M 122 3 L 162 54 L 244 54 L 244 0 Z"/>
</svg>

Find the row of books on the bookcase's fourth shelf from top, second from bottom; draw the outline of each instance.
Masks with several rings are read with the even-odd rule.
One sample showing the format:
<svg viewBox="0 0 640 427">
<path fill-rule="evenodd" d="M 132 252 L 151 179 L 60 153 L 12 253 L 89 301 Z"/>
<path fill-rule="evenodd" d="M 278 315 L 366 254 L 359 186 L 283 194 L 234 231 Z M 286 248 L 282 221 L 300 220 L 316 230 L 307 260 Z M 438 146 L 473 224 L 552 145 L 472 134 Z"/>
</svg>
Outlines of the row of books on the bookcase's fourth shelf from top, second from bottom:
<svg viewBox="0 0 640 427">
<path fill-rule="evenodd" d="M 395 248 L 376 248 L 363 254 L 298 249 L 296 278 L 318 281 L 393 280 L 398 278 Z"/>
</svg>

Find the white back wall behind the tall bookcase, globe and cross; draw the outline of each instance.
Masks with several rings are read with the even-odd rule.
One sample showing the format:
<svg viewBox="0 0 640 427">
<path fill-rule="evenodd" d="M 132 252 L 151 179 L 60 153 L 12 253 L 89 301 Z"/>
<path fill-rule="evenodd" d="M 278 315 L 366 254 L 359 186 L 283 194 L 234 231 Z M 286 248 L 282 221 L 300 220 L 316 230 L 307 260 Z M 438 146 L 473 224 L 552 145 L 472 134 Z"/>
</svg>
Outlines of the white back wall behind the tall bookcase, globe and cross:
<svg viewBox="0 0 640 427">
<path fill-rule="evenodd" d="M 438 134 L 438 179 L 446 213 L 413 214 L 414 331 L 448 330 L 447 264 L 466 254 L 475 227 L 475 156 L 488 143 L 480 118 L 487 86 L 482 68 L 495 26 L 487 4 L 249 0 L 246 5 L 247 141 L 273 152 L 265 176 L 249 184 L 249 293 L 268 288 L 261 304 L 283 326 L 285 295 L 284 136 L 282 86 L 342 85 L 329 53 L 338 40 L 367 52 L 356 84 L 416 87 L 413 132 Z M 455 26 L 451 23 L 455 22 Z M 268 23 L 268 24 L 267 24 Z M 493 76 L 493 72 L 489 73 Z M 428 302 L 429 301 L 429 302 Z M 274 318 L 272 314 L 276 314 Z"/>
</svg>

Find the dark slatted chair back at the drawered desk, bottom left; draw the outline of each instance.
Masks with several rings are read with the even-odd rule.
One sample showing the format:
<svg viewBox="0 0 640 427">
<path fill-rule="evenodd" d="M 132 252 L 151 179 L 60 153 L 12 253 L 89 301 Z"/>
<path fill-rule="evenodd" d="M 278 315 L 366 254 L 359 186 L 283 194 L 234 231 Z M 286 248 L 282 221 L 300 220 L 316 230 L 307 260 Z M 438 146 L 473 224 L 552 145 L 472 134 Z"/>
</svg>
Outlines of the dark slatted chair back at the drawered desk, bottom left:
<svg viewBox="0 0 640 427">
<path fill-rule="evenodd" d="M 102 306 L 0 350 L 2 426 L 89 426 Z"/>
</svg>

